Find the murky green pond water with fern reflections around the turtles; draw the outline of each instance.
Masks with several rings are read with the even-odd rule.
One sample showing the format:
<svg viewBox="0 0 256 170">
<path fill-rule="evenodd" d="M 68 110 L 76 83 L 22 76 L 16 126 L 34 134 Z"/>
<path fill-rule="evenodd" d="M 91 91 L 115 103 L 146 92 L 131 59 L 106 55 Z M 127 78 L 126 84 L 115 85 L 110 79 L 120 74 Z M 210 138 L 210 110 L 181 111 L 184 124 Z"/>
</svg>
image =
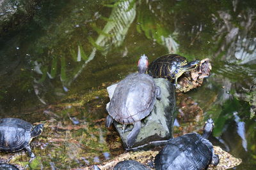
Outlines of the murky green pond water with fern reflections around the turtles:
<svg viewBox="0 0 256 170">
<path fill-rule="evenodd" d="M 35 9 L 0 38 L 1 118 L 47 122 L 30 168 L 83 167 L 124 152 L 104 127 L 106 87 L 135 72 L 143 53 L 150 62 L 166 53 L 209 58 L 211 76 L 185 95 L 214 119 L 212 143 L 243 159 L 236 169 L 256 166 L 255 1 L 66 0 Z"/>
</svg>

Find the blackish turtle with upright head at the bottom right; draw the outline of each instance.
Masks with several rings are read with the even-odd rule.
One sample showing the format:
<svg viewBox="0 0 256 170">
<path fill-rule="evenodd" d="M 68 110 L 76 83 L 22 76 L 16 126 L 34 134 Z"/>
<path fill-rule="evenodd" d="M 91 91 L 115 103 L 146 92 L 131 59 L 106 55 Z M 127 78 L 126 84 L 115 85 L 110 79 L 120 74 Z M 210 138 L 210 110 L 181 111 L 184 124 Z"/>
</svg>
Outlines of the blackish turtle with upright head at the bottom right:
<svg viewBox="0 0 256 170">
<path fill-rule="evenodd" d="M 212 143 L 207 139 L 214 127 L 209 118 L 204 125 L 204 134 L 189 133 L 168 140 L 163 150 L 155 157 L 156 169 L 207 169 L 209 164 L 216 166 L 220 159 L 214 154 Z"/>
</svg>

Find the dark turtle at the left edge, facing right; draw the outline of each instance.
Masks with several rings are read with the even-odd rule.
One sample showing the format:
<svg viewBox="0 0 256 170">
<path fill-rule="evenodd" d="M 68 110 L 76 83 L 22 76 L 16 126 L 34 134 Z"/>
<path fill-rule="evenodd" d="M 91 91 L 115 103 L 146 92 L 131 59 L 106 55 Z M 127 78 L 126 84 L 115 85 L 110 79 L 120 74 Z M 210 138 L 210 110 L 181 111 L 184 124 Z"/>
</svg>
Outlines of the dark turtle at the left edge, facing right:
<svg viewBox="0 0 256 170">
<path fill-rule="evenodd" d="M 25 149 L 30 157 L 35 157 L 31 152 L 29 143 L 33 138 L 40 135 L 44 124 L 33 127 L 32 124 L 19 118 L 0 119 L 0 151 L 16 152 Z"/>
</svg>

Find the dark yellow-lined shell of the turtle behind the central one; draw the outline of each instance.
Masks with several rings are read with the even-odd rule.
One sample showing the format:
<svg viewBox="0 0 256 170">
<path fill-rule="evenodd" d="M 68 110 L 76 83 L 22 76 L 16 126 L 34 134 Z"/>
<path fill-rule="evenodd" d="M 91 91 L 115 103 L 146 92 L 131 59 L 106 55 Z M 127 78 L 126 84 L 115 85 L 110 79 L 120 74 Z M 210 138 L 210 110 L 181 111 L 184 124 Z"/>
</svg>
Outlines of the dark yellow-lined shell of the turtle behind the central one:
<svg viewBox="0 0 256 170">
<path fill-rule="evenodd" d="M 188 64 L 185 57 L 177 54 L 168 54 L 158 57 L 148 66 L 148 74 L 154 78 L 175 79 L 180 66 Z"/>
</svg>

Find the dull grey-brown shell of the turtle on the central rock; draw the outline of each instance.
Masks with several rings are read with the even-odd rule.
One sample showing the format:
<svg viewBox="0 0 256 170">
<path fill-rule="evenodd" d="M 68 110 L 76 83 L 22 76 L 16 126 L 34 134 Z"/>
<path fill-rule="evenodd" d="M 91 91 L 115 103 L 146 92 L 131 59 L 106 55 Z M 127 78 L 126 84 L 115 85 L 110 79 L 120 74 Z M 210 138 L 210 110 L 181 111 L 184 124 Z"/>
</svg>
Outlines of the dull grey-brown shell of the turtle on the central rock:
<svg viewBox="0 0 256 170">
<path fill-rule="evenodd" d="M 155 102 L 154 79 L 148 74 L 132 73 L 116 86 L 109 115 L 121 124 L 132 124 L 147 117 Z"/>
</svg>

